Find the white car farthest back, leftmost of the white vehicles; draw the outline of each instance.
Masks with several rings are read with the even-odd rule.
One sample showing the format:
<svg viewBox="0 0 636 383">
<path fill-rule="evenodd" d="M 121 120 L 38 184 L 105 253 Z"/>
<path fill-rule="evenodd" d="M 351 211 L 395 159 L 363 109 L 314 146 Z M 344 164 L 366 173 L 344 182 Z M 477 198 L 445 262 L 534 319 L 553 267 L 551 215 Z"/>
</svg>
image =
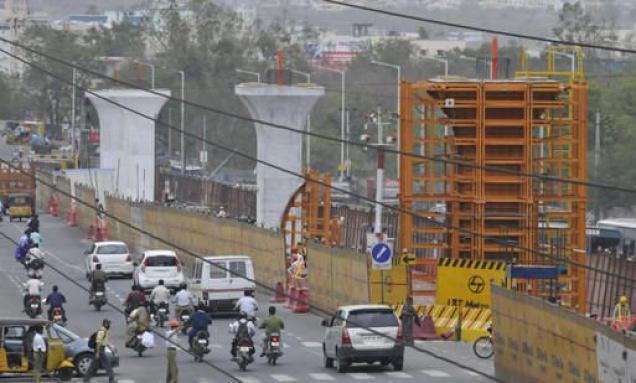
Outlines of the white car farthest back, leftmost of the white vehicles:
<svg viewBox="0 0 636 383">
<path fill-rule="evenodd" d="M 95 242 L 84 252 L 84 269 L 86 278 L 90 279 L 96 264 L 108 275 L 125 275 L 132 277 L 135 266 L 132 255 L 125 243 L 119 241 Z"/>
</svg>

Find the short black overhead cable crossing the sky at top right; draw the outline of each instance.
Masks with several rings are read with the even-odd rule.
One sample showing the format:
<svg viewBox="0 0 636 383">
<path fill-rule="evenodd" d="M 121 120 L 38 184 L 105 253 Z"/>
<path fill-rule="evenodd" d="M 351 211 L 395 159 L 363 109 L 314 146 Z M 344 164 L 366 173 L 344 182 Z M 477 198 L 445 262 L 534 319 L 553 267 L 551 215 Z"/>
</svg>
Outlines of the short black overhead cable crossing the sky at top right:
<svg viewBox="0 0 636 383">
<path fill-rule="evenodd" d="M 484 32 L 484 33 L 490 33 L 493 35 L 500 35 L 500 36 L 516 37 L 516 38 L 524 39 L 524 40 L 541 41 L 541 42 L 550 43 L 550 44 L 570 45 L 570 46 L 577 46 L 581 48 L 599 49 L 599 50 L 610 51 L 610 52 L 636 54 L 636 50 L 630 49 L 630 48 L 614 47 L 611 45 L 600 45 L 600 44 L 594 44 L 594 43 L 588 43 L 588 42 L 559 40 L 559 39 L 550 38 L 550 37 L 534 36 L 534 35 L 529 35 L 529 34 L 520 33 L 520 32 L 505 31 L 502 29 L 484 28 L 484 27 L 478 27 L 478 26 L 470 25 L 470 24 L 455 23 L 451 21 L 432 19 L 428 17 L 408 15 L 406 13 L 388 11 L 381 8 L 375 8 L 375 7 L 370 7 L 367 5 L 354 4 L 354 3 L 349 3 L 345 1 L 339 1 L 339 0 L 322 0 L 322 1 L 324 1 L 325 3 L 358 9 L 361 11 L 373 12 L 373 13 L 378 13 L 378 14 L 382 14 L 386 16 L 399 17 L 402 19 L 421 21 L 424 23 L 442 25 L 445 27 L 467 29 L 470 31 Z"/>
</svg>

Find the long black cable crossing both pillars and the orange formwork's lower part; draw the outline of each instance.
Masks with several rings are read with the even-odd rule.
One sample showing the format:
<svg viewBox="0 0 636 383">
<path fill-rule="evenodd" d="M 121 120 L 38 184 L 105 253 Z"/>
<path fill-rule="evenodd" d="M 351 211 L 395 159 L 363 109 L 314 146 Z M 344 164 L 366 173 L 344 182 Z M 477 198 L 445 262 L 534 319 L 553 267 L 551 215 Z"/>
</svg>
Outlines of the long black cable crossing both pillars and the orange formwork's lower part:
<svg viewBox="0 0 636 383">
<path fill-rule="evenodd" d="M 25 64 L 27 64 L 27 65 L 29 65 L 29 66 L 32 66 L 32 67 L 34 67 L 34 68 L 38 69 L 39 71 L 42 71 L 43 73 L 46 73 L 47 75 L 49 75 L 49 76 L 51 76 L 51 77 L 53 77 L 53 78 L 58 79 L 59 81 L 65 82 L 65 83 L 67 83 L 67 84 L 70 84 L 70 83 L 71 83 L 69 80 L 67 80 L 67 79 L 65 79 L 65 78 L 63 78 L 63 77 L 61 77 L 61 76 L 58 76 L 58 75 L 56 75 L 56 74 L 54 74 L 54 73 L 52 73 L 52 72 L 48 71 L 47 69 L 44 69 L 44 68 L 42 68 L 42 67 L 40 67 L 40 66 L 38 66 L 38 65 L 36 65 L 36 64 L 34 64 L 34 63 L 32 63 L 32 62 L 28 61 L 28 60 L 26 60 L 26 59 L 24 59 L 24 58 L 22 58 L 22 57 L 19 57 L 19 56 L 17 56 L 17 55 L 14 55 L 14 54 L 12 54 L 12 53 L 10 53 L 10 52 L 6 51 L 6 50 L 4 50 L 4 49 L 1 49 L 1 48 L 0 48 L 0 52 L 3 52 L 3 53 L 5 53 L 5 54 L 7 54 L 7 55 L 9 55 L 9 56 L 11 56 L 11 57 L 13 57 L 13 58 L 15 58 L 16 60 L 19 60 L 19 61 L 21 61 L 21 62 L 23 62 L 23 63 L 25 63 Z M 170 125 L 170 124 L 168 124 L 168 123 L 166 123 L 166 122 L 163 122 L 163 121 L 161 121 L 161 120 L 158 120 L 158 119 L 156 119 L 156 118 L 154 118 L 154 117 L 152 117 L 152 116 L 149 116 L 149 115 L 147 115 L 147 114 L 144 114 L 144 113 L 142 113 L 142 112 L 139 112 L 138 110 L 135 110 L 135 109 L 133 109 L 133 108 L 130 108 L 130 107 L 128 107 L 128 106 L 126 106 L 126 105 L 123 105 L 123 104 L 121 104 L 121 103 L 119 103 L 119 102 L 113 101 L 113 100 L 109 99 L 109 98 L 108 98 L 108 97 L 106 97 L 106 96 L 100 95 L 100 94 L 98 94 L 98 93 L 96 93 L 96 92 L 94 92 L 94 91 L 88 90 L 88 89 L 86 89 L 86 88 L 84 88 L 84 87 L 81 87 L 81 86 L 79 86 L 79 85 L 77 85 L 77 84 L 76 84 L 76 87 L 77 87 L 78 89 L 80 89 L 80 90 L 83 90 L 83 91 L 85 91 L 85 92 L 87 92 L 87 93 L 89 93 L 89 94 L 91 94 L 91 95 L 95 96 L 96 98 L 102 99 L 102 100 L 104 100 L 104 101 L 106 101 L 106 102 L 108 102 L 108 103 L 110 103 L 110 104 L 112 104 L 112 105 L 115 105 L 115 106 L 117 106 L 117 107 L 119 107 L 119 108 L 122 108 L 122 109 L 124 109 L 124 110 L 127 110 L 127 111 L 129 111 L 129 112 L 131 112 L 131 113 L 133 113 L 133 114 L 135 114 L 135 115 L 138 115 L 138 116 L 140 116 L 140 117 L 144 118 L 144 119 L 154 121 L 155 123 L 157 123 L 157 124 L 159 124 L 159 125 L 166 126 L 168 129 L 171 129 L 171 130 L 179 131 L 179 132 L 180 132 L 180 129 L 179 129 L 179 128 L 177 128 L 177 127 L 175 127 L 175 126 L 173 126 L 173 125 Z M 383 207 L 385 207 L 385 208 L 387 208 L 387 209 L 390 209 L 390 210 L 393 210 L 393 211 L 397 211 L 397 212 L 400 212 L 400 213 L 404 213 L 404 214 L 408 214 L 408 215 L 410 215 L 410 216 L 412 216 L 412 217 L 414 217 L 414 218 L 424 219 L 424 220 L 426 220 L 427 222 L 430 222 L 430 223 L 432 223 L 432 224 L 434 224 L 434 225 L 440 226 L 440 227 L 445 228 L 445 229 L 455 230 L 455 231 L 460 232 L 460 233 L 469 234 L 469 235 L 473 235 L 473 236 L 476 236 L 476 237 L 483 238 L 484 240 L 488 240 L 488 241 L 490 241 L 491 243 L 495 243 L 495 244 L 497 244 L 497 245 L 499 245 L 499 246 L 501 246 L 501 247 L 504 247 L 504 248 L 506 248 L 506 249 L 517 249 L 517 250 L 525 251 L 525 252 L 528 252 L 528 253 L 531 253 L 531 254 L 537 255 L 537 256 L 539 256 L 539 257 L 541 257 L 541 258 L 550 259 L 550 260 L 552 260 L 552 261 L 554 261 L 554 262 L 557 262 L 557 263 L 559 263 L 559 262 L 567 263 L 567 264 L 569 264 L 569 265 L 571 265 L 571 266 L 581 267 L 581 268 L 583 268 L 583 269 L 591 270 L 591 271 L 597 271 L 597 272 L 603 273 L 604 275 L 612 276 L 612 277 L 618 278 L 618 279 L 620 279 L 620 280 L 626 280 L 626 281 L 628 281 L 628 282 L 632 282 L 632 283 L 636 282 L 636 280 L 633 280 L 633 279 L 627 278 L 627 277 L 622 276 L 622 275 L 620 275 L 620 274 L 611 273 L 611 272 L 607 272 L 607 271 L 605 271 L 605 270 L 601 270 L 601 269 L 598 269 L 598 268 L 594 268 L 594 267 L 591 267 L 591 266 L 589 266 L 589 265 L 587 265 L 587 264 L 584 264 L 584 263 L 580 263 L 580 262 L 573 261 L 573 260 L 571 260 L 571 259 L 569 259 L 569 258 L 565 258 L 565 257 L 561 257 L 561 256 L 555 256 L 555 255 L 551 255 L 551 254 L 542 253 L 542 252 L 537 251 L 537 250 L 532 249 L 532 248 L 527 248 L 527 247 L 524 247 L 524 246 L 521 246 L 521 245 L 518 245 L 518 244 L 513 244 L 513 243 L 510 243 L 510 242 L 508 242 L 508 241 L 502 240 L 502 239 L 500 239 L 500 238 L 498 238 L 498 237 L 491 237 L 491 236 L 488 236 L 488 235 L 486 235 L 486 234 L 483 234 L 483 233 L 477 233 L 477 232 L 474 232 L 474 231 L 471 231 L 471 230 L 469 230 L 469 229 L 465 229 L 465 228 L 462 228 L 462 227 L 455 227 L 455 226 L 452 226 L 452 225 L 446 225 L 446 224 L 444 224 L 444 223 L 442 223 L 442 222 L 438 222 L 438 221 L 436 221 L 436 220 L 434 220 L 434 219 L 432 219 L 432 218 L 430 218 L 430 217 L 426 217 L 426 216 L 424 216 L 424 215 L 417 214 L 416 212 L 413 212 L 413 211 L 411 211 L 411 210 L 404 209 L 404 208 L 401 208 L 401 207 L 395 207 L 395 206 L 389 205 L 389 204 L 387 204 L 387 203 L 385 203 L 385 202 L 376 201 L 376 200 L 375 200 L 375 199 L 373 199 L 373 198 L 369 198 L 369 197 L 367 197 L 367 196 L 364 196 L 364 195 L 361 195 L 361 194 L 357 194 L 357 193 L 351 192 L 351 191 L 346 190 L 346 189 L 344 189 L 344 188 L 336 187 L 336 186 L 333 186 L 333 185 L 328 184 L 328 183 L 326 183 L 326 182 L 323 182 L 323 181 L 319 181 L 319 180 L 312 179 L 312 178 L 308 177 L 307 175 L 304 175 L 304 174 L 300 174 L 300 173 L 294 172 L 294 171 L 292 171 L 292 170 L 286 169 L 286 168 L 284 168 L 284 167 L 278 166 L 278 165 L 273 164 L 273 163 L 270 163 L 270 162 L 268 162 L 268 161 L 261 160 L 261 159 L 259 159 L 258 157 L 255 157 L 255 156 L 252 156 L 252 155 L 249 155 L 249 154 L 243 153 L 243 152 L 241 152 L 241 151 L 239 151 L 239 150 L 232 149 L 232 148 L 230 148 L 230 147 L 228 147 L 228 146 L 225 146 L 225 145 L 219 144 L 219 143 L 217 143 L 217 142 L 214 142 L 214 141 L 210 141 L 210 140 L 204 139 L 203 137 L 198 136 L 198 135 L 196 135 L 196 134 L 194 134 L 194 133 L 184 132 L 184 135 L 186 135 L 186 136 L 188 136 L 188 137 L 191 137 L 191 138 L 194 138 L 194 139 L 196 139 L 196 140 L 198 140 L 198 141 L 204 142 L 204 143 L 206 143 L 206 144 L 208 144 L 208 145 L 211 145 L 211 146 L 213 146 L 213 147 L 219 148 L 219 149 L 221 149 L 221 150 L 224 150 L 224 151 L 226 151 L 226 152 L 228 152 L 228 153 L 233 153 L 233 154 L 235 154 L 235 155 L 237 155 L 237 156 L 239 156 L 239 157 L 243 157 L 243 158 L 248 159 L 248 160 L 250 160 L 250 161 L 254 161 L 254 162 L 257 162 L 257 163 L 263 164 L 263 165 L 265 165 L 265 166 L 271 167 L 271 168 L 276 169 L 276 170 L 278 170 L 278 171 L 280 171 L 280 172 L 283 172 L 283 173 L 285 173 L 285 174 L 293 175 L 293 176 L 295 176 L 295 177 L 298 177 L 298 178 L 300 178 L 300 179 L 305 180 L 306 182 L 313 182 L 313 183 L 315 183 L 315 184 L 318 184 L 318 185 L 321 185 L 321 186 L 324 186 L 324 187 L 331 188 L 332 190 L 336 190 L 336 191 L 341 192 L 341 193 L 343 193 L 343 194 L 350 195 L 350 196 L 352 196 L 352 197 L 358 198 L 359 200 L 365 201 L 365 202 L 370 203 L 370 204 L 373 204 L 373 205 L 380 204 L 381 206 L 383 206 Z M 4 162 L 4 163 L 7 163 L 7 164 L 10 164 L 10 163 L 9 163 L 8 161 L 6 161 L 6 160 L 0 160 L 0 161 L 1 161 L 1 162 Z M 14 165 L 11 165 L 11 166 L 12 166 L 12 168 L 17 169 L 18 171 L 20 171 L 20 169 L 19 169 L 19 168 L 17 168 L 17 167 L 15 167 Z M 28 173 L 26 173 L 26 172 L 24 172 L 24 171 L 22 171 L 22 172 L 23 172 L 24 174 L 28 174 Z M 116 217 L 113 217 L 113 218 L 115 218 L 115 219 L 116 219 Z M 572 251 L 572 252 L 581 252 L 581 251 L 583 251 L 583 252 L 585 252 L 585 250 L 583 250 L 583 249 L 570 249 L 570 248 L 565 248 L 565 247 L 555 247 L 555 246 L 553 246 L 552 248 L 553 248 L 553 249 L 558 249 L 558 250 L 563 250 L 563 251 Z"/>
</svg>

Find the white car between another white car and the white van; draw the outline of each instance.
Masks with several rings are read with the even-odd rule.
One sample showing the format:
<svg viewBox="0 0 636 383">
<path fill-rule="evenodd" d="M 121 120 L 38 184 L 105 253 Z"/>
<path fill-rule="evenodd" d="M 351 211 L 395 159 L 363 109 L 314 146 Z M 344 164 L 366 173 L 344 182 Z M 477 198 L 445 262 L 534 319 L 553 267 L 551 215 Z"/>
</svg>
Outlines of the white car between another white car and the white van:
<svg viewBox="0 0 636 383">
<path fill-rule="evenodd" d="M 181 260 L 172 250 L 145 251 L 135 268 L 133 283 L 145 292 L 150 292 L 159 284 L 160 279 L 163 279 L 170 290 L 177 290 L 185 282 Z"/>
</svg>

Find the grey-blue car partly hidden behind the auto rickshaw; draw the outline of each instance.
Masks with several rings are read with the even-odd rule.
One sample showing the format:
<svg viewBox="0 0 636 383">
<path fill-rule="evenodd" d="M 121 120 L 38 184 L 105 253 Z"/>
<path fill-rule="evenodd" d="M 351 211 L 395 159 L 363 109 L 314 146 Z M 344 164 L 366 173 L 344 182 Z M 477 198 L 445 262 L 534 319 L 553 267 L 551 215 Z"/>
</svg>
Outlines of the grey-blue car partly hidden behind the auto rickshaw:
<svg viewBox="0 0 636 383">
<path fill-rule="evenodd" d="M 84 376 L 95 355 L 95 351 L 88 347 L 88 338 L 82 338 L 66 327 L 57 324 L 51 326 L 51 331 L 55 331 L 62 342 L 64 342 L 66 357 L 72 358 L 77 375 Z M 115 346 L 108 347 L 106 355 L 108 355 L 113 368 L 119 367 L 119 354 Z"/>
</svg>

